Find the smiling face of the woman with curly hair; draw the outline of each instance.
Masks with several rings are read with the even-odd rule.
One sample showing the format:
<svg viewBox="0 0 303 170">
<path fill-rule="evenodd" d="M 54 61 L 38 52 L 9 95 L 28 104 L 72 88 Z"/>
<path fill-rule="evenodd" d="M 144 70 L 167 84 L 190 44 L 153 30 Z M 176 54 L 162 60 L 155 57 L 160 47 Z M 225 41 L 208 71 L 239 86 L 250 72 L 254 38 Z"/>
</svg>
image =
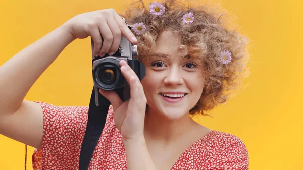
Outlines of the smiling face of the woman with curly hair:
<svg viewBox="0 0 303 170">
<path fill-rule="evenodd" d="M 164 32 L 156 43 L 154 55 L 143 61 L 146 75 L 141 83 L 148 110 L 170 120 L 188 114 L 200 99 L 205 80 L 201 62 L 180 56 L 177 52 L 180 45 L 176 35 Z"/>
</svg>

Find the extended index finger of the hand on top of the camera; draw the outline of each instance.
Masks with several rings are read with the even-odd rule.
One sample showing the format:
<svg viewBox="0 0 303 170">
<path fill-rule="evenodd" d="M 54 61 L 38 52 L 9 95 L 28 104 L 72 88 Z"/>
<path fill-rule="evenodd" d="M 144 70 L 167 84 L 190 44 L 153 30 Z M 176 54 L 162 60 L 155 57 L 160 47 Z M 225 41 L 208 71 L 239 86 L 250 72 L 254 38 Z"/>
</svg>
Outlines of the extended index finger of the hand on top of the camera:
<svg viewBox="0 0 303 170">
<path fill-rule="evenodd" d="M 135 37 L 135 35 L 130 31 L 128 26 L 126 25 L 125 21 L 117 14 L 115 13 L 115 20 L 121 30 L 122 35 L 125 36 L 125 38 L 130 41 L 132 44 L 137 44 L 138 40 Z"/>
</svg>

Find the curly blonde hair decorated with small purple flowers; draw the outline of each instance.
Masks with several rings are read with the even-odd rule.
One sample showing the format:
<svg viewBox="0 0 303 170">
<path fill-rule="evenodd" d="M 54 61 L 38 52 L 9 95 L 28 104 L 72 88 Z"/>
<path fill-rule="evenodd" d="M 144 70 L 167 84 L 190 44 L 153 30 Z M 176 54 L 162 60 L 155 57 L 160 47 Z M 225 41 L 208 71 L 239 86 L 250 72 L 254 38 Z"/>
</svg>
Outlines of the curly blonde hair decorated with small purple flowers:
<svg viewBox="0 0 303 170">
<path fill-rule="evenodd" d="M 156 17 L 143 1 L 136 1 L 121 16 L 130 25 L 142 22 L 146 26 L 144 34 L 137 36 L 140 60 L 148 57 L 162 32 L 173 31 L 181 39 L 182 45 L 178 51 L 186 57 L 198 57 L 203 62 L 203 93 L 189 112 L 191 115 L 208 115 L 205 111 L 224 103 L 232 94 L 231 90 L 237 90 L 242 78 L 249 75 L 246 64 L 250 56 L 248 38 L 231 28 L 235 26 L 232 17 L 226 18 L 227 13 L 222 13 L 218 5 L 196 3 L 198 5 L 177 0 L 165 1 L 162 3 L 165 13 Z M 181 18 L 189 12 L 194 14 L 194 21 L 188 25 L 182 23 Z M 232 53 L 232 60 L 227 65 L 220 60 L 220 52 L 225 50 Z"/>
</svg>

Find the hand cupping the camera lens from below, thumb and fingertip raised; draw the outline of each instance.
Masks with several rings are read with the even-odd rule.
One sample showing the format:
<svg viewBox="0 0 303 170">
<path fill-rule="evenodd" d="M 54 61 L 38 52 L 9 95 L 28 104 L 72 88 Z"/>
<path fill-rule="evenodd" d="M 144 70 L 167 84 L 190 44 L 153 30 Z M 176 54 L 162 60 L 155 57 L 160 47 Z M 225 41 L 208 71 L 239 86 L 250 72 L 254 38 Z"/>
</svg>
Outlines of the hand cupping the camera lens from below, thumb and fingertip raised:
<svg viewBox="0 0 303 170">
<path fill-rule="evenodd" d="M 123 102 L 115 91 L 99 92 L 113 105 L 114 121 L 124 139 L 138 139 L 144 137 L 144 118 L 146 97 L 142 84 L 136 73 L 122 60 L 121 73 L 130 86 L 130 99 Z"/>
</svg>

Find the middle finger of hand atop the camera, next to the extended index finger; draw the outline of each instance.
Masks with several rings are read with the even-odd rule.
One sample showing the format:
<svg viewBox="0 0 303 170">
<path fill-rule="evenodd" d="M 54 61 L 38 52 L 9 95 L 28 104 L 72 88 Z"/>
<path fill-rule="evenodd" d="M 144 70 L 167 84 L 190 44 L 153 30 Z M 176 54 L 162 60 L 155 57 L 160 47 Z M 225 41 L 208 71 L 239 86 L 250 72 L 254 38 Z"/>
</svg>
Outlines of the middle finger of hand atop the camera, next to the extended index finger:
<svg viewBox="0 0 303 170">
<path fill-rule="evenodd" d="M 119 48 L 119 45 L 120 45 L 120 41 L 121 41 L 121 31 L 118 27 L 118 24 L 116 23 L 116 21 L 113 21 L 113 20 L 108 20 L 108 25 L 109 25 L 109 28 L 112 32 L 112 35 L 114 37 L 113 39 L 113 43 L 112 43 L 112 46 L 109 50 L 109 55 L 113 55 Z"/>
</svg>

